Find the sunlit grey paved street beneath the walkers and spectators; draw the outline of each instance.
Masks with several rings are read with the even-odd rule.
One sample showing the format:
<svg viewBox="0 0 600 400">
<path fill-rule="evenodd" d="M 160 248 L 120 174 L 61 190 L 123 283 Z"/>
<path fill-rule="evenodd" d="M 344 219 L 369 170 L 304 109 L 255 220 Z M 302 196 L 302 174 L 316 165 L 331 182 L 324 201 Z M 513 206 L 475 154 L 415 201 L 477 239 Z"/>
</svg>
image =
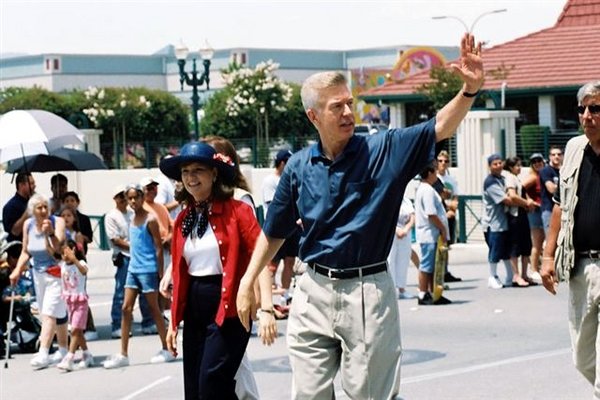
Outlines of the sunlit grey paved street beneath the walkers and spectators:
<svg viewBox="0 0 600 400">
<path fill-rule="evenodd" d="M 591 385 L 571 361 L 565 286 L 556 297 L 541 286 L 489 290 L 481 248 L 457 251 L 454 262 L 453 253 L 450 257 L 452 272 L 464 279 L 445 292 L 454 301 L 452 305 L 417 307 L 416 300 L 399 302 L 404 347 L 402 399 L 592 397 Z M 100 364 L 119 349 L 119 341 L 109 339 L 113 267 L 108 254 L 96 250 L 91 252 L 90 266 L 93 272 L 88 285 L 101 336 L 90 343 L 90 349 Z M 416 291 L 412 267 L 409 283 L 409 289 Z M 285 332 L 286 322 L 280 321 L 279 327 Z M 15 354 L 8 369 L 0 369 L 0 400 L 180 399 L 181 362 L 149 363 L 159 345 L 158 336 L 136 332 L 130 343 L 130 367 L 110 371 L 97 367 L 68 374 L 54 368 L 32 371 L 31 355 Z M 264 347 L 253 337 L 248 354 L 262 399 L 288 399 L 291 372 L 285 338 L 280 336 L 275 345 Z M 336 398 L 347 399 L 339 382 Z"/>
</svg>

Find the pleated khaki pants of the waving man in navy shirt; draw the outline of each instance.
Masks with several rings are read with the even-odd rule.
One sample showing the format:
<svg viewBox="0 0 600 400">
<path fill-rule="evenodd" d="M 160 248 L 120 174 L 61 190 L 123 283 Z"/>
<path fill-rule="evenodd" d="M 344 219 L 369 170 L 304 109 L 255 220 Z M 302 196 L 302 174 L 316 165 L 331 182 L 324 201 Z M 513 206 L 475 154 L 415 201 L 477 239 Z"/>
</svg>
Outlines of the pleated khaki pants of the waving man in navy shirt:
<svg viewBox="0 0 600 400">
<path fill-rule="evenodd" d="M 298 281 L 288 320 L 292 398 L 331 400 L 338 370 L 351 399 L 393 399 L 400 386 L 400 321 L 387 272 Z"/>
</svg>

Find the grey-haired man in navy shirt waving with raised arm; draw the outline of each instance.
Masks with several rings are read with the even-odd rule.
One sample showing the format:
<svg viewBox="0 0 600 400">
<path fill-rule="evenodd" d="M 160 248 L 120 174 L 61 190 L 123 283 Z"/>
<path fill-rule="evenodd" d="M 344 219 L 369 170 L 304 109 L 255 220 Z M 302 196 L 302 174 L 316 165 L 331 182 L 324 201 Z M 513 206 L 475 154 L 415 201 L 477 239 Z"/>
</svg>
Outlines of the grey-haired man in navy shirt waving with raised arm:
<svg viewBox="0 0 600 400">
<path fill-rule="evenodd" d="M 452 136 L 473 105 L 483 84 L 480 54 L 481 44 L 465 34 L 453 66 L 462 90 L 436 118 L 368 137 L 353 135 L 353 98 L 342 73 L 304 82 L 302 103 L 319 142 L 289 159 L 237 297 L 249 329 L 254 281 L 300 219 L 299 256 L 309 267 L 287 326 L 293 398 L 332 398 L 340 366 L 350 398 L 398 394 L 400 324 L 386 264 L 396 216 L 407 183 L 433 160 L 435 142 Z M 261 310 L 261 326 L 266 318 L 272 310 Z"/>
</svg>

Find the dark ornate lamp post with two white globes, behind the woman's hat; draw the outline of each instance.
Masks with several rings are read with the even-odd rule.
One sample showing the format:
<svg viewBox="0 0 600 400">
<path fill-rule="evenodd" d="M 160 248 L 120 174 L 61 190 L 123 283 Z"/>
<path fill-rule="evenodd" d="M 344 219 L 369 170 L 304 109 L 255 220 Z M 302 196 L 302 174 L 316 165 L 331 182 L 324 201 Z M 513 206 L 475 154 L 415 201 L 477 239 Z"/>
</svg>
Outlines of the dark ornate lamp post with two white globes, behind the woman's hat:
<svg viewBox="0 0 600 400">
<path fill-rule="evenodd" d="M 203 49 L 198 51 L 202 58 L 202 64 L 204 65 L 204 71 L 198 76 L 199 71 L 196 69 L 196 57 L 192 59 L 192 77 L 185 72 L 185 62 L 189 54 L 187 46 L 183 43 L 175 48 L 175 57 L 177 57 L 177 65 L 179 65 L 179 83 L 181 84 L 181 90 L 183 90 L 183 84 L 192 87 L 192 111 L 194 117 L 194 140 L 198 140 L 200 137 L 200 128 L 198 127 L 198 109 L 200 108 L 200 96 L 198 95 L 198 87 L 202 87 L 206 83 L 206 90 L 210 89 L 210 62 L 215 54 L 215 51 L 210 47 L 208 42 Z"/>
</svg>

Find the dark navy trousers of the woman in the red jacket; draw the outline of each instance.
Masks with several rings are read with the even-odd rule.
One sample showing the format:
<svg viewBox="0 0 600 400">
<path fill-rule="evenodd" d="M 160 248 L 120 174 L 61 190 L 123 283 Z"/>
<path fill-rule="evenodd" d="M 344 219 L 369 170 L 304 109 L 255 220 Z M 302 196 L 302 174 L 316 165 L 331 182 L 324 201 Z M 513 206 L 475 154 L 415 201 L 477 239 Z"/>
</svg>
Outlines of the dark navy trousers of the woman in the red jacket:
<svg viewBox="0 0 600 400">
<path fill-rule="evenodd" d="M 221 276 L 192 278 L 184 313 L 183 380 L 187 400 L 237 400 L 235 374 L 250 333 L 237 317 L 215 323 Z"/>
</svg>

